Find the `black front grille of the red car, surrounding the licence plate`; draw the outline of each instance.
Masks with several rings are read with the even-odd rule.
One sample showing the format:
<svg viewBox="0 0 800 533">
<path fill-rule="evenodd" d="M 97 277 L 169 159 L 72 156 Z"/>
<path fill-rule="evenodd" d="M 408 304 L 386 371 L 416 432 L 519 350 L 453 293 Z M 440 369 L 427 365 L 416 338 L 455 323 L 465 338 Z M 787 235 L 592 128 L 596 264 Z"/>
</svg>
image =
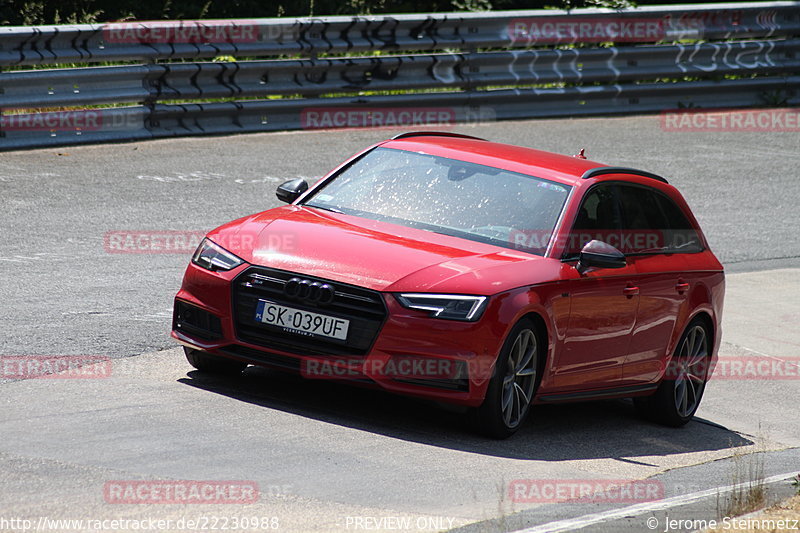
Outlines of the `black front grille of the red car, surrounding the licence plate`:
<svg viewBox="0 0 800 533">
<path fill-rule="evenodd" d="M 288 296 L 284 287 L 292 278 L 333 287 L 330 302 Z M 256 321 L 259 300 L 350 321 L 347 339 L 305 336 L 280 326 Z M 324 299 L 323 299 L 324 300 Z M 233 313 L 236 336 L 242 341 L 298 355 L 366 355 L 386 319 L 386 305 L 377 291 L 336 281 L 254 266 L 233 282 Z"/>
</svg>

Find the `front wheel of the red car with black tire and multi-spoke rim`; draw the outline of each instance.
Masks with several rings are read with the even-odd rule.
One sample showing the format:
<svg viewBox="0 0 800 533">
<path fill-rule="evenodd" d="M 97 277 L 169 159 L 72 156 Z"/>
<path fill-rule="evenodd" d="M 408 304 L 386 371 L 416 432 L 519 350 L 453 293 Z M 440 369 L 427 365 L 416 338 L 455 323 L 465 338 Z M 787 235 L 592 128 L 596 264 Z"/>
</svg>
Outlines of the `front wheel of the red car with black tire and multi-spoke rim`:
<svg viewBox="0 0 800 533">
<path fill-rule="evenodd" d="M 481 433 L 505 439 L 522 426 L 539 388 L 540 360 L 544 353 L 536 324 L 527 318 L 520 320 L 503 343 L 486 398 L 476 410 Z"/>
</svg>

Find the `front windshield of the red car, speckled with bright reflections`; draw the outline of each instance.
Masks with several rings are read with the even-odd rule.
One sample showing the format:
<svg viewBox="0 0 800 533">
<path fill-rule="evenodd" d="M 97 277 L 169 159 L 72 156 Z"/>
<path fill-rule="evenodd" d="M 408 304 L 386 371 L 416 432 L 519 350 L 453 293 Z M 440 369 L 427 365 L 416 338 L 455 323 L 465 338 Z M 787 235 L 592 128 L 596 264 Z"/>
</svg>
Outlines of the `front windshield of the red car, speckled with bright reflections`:
<svg viewBox="0 0 800 533">
<path fill-rule="evenodd" d="M 569 190 L 517 172 L 377 148 L 304 205 L 543 255 Z"/>
</svg>

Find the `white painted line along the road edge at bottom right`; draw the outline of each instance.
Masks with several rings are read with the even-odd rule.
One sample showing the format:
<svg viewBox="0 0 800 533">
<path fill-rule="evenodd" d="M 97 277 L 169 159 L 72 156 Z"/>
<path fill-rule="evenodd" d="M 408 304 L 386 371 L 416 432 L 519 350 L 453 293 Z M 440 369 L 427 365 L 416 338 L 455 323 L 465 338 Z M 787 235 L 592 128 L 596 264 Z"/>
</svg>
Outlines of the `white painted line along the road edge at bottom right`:
<svg viewBox="0 0 800 533">
<path fill-rule="evenodd" d="M 771 483 L 777 483 L 778 481 L 789 479 L 796 475 L 797 472 L 777 474 L 775 476 L 764 478 L 762 481 L 765 485 L 768 485 Z M 575 529 L 584 528 L 586 526 L 591 526 L 593 524 L 608 522 L 609 520 L 616 520 L 618 518 L 630 518 L 632 516 L 638 516 L 644 513 L 650 513 L 653 511 L 663 511 L 664 509 L 679 507 L 681 505 L 686 505 L 688 503 L 696 502 L 698 500 L 702 500 L 710 496 L 716 496 L 717 494 L 725 494 L 727 492 L 732 492 L 737 489 L 746 488 L 747 486 L 750 485 L 750 483 L 751 483 L 750 481 L 745 481 L 743 483 L 737 483 L 735 485 L 724 485 L 722 487 L 715 487 L 713 489 L 706 489 L 697 492 L 692 492 L 689 494 L 682 494 L 680 496 L 673 496 L 672 498 L 665 498 L 663 500 L 655 502 L 637 503 L 635 505 L 629 505 L 628 507 L 622 507 L 620 509 L 611 509 L 608 511 L 603 511 L 601 513 L 592 513 L 579 516 L 577 518 L 568 518 L 566 520 L 557 520 L 555 522 L 550 522 L 547 524 L 542 524 L 539 526 L 533 526 L 527 529 L 522 529 L 519 530 L 519 532 L 558 533 L 560 531 L 572 531 Z"/>
</svg>

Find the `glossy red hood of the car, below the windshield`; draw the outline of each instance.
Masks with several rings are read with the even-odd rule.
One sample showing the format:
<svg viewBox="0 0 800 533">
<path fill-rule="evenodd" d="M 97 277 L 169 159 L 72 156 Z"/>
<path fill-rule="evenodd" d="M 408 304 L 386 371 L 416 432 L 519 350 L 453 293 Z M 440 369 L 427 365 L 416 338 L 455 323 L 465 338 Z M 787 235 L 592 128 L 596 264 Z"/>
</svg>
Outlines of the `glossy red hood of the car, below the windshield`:
<svg viewBox="0 0 800 533">
<path fill-rule="evenodd" d="M 246 217 L 208 237 L 245 261 L 379 291 L 496 294 L 556 279 L 560 261 L 302 206 Z"/>
</svg>

